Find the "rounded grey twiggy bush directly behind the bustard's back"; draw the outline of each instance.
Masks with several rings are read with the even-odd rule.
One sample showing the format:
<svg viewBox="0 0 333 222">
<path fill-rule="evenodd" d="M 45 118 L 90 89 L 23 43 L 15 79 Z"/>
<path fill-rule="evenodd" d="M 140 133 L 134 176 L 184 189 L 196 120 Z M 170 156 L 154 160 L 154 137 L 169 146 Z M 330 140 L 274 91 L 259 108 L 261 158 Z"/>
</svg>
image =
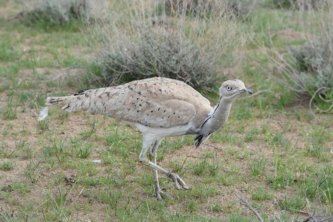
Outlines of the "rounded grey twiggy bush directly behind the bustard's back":
<svg viewBox="0 0 333 222">
<path fill-rule="evenodd" d="M 197 89 L 209 89 L 215 84 L 217 70 L 212 61 L 213 53 L 203 54 L 181 33 L 152 30 L 128 45 L 102 50 L 97 58 L 102 85 L 162 76 Z"/>
</svg>

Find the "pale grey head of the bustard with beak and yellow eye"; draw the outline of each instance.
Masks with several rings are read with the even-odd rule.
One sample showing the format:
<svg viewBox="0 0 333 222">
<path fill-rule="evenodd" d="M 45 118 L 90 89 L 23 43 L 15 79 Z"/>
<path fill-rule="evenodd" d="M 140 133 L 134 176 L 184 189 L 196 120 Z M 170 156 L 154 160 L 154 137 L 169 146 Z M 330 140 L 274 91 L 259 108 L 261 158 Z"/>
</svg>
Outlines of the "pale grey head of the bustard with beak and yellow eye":
<svg viewBox="0 0 333 222">
<path fill-rule="evenodd" d="M 225 80 L 219 89 L 220 97 L 231 101 L 234 101 L 245 93 L 253 94 L 251 90 L 245 88 L 244 83 L 239 79 Z"/>
</svg>

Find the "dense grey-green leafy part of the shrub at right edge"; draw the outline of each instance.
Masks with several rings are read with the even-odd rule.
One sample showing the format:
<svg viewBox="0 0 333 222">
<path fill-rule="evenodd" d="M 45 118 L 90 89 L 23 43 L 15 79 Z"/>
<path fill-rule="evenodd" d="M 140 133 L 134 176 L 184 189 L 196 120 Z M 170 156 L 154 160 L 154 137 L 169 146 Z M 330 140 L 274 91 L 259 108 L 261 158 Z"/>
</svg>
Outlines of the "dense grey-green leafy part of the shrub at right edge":
<svg viewBox="0 0 333 222">
<path fill-rule="evenodd" d="M 299 94 L 333 102 L 333 36 L 323 36 L 290 49 L 293 72 L 288 74 Z"/>
</svg>

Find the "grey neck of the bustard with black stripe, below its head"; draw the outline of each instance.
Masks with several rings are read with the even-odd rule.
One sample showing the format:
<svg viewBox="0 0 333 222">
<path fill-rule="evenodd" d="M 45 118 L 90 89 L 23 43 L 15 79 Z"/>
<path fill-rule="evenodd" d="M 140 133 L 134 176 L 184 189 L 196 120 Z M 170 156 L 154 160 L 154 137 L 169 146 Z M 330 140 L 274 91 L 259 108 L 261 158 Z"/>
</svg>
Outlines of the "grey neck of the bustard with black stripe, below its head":
<svg viewBox="0 0 333 222">
<path fill-rule="evenodd" d="M 202 133 L 213 133 L 220 128 L 228 120 L 232 104 L 233 101 L 220 97 L 214 110 L 208 115 L 207 119 L 202 124 Z"/>
</svg>

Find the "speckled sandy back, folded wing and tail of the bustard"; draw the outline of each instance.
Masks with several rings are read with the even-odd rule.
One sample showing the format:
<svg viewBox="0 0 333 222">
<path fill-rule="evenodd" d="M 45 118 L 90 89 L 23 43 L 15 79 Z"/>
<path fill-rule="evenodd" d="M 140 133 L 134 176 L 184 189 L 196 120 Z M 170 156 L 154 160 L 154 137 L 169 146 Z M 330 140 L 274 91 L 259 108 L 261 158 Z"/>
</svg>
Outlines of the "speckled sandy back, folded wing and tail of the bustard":
<svg viewBox="0 0 333 222">
<path fill-rule="evenodd" d="M 91 114 L 164 128 L 187 124 L 194 118 L 195 126 L 199 127 L 212 111 L 208 99 L 186 83 L 160 77 L 83 90 L 49 101 L 63 105 L 69 112 L 87 110 Z"/>
</svg>

